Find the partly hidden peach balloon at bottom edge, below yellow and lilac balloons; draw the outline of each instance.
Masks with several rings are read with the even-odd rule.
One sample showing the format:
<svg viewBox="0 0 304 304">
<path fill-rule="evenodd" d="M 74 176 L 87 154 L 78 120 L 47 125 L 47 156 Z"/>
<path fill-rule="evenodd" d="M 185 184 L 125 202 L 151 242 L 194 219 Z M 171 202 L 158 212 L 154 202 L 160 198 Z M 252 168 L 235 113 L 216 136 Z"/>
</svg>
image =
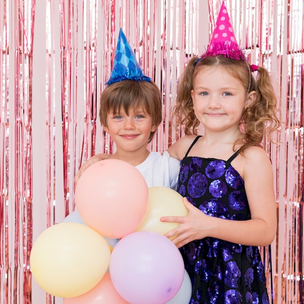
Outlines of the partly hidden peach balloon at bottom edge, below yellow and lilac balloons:
<svg viewBox="0 0 304 304">
<path fill-rule="evenodd" d="M 114 288 L 107 272 L 101 281 L 88 292 L 74 298 L 66 298 L 64 304 L 129 304 Z"/>
</svg>

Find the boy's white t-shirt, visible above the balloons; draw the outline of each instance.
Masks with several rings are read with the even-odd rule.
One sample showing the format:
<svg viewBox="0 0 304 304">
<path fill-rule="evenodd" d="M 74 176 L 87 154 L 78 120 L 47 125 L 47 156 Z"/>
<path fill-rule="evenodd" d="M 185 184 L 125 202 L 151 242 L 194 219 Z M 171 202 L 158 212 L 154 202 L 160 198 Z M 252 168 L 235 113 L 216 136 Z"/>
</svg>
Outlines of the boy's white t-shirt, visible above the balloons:
<svg viewBox="0 0 304 304">
<path fill-rule="evenodd" d="M 176 190 L 180 161 L 165 151 L 150 152 L 144 162 L 136 166 L 146 180 L 148 187 L 163 186 Z"/>
</svg>

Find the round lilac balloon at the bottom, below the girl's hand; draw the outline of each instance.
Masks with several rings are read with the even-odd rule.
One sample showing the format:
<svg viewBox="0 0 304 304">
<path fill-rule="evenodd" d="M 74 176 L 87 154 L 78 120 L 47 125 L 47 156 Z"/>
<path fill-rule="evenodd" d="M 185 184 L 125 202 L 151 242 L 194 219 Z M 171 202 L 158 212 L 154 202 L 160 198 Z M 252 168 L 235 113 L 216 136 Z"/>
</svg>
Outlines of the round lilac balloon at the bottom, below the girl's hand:
<svg viewBox="0 0 304 304">
<path fill-rule="evenodd" d="M 132 304 L 165 304 L 182 285 L 185 266 L 169 238 L 138 231 L 119 240 L 110 258 L 118 293 Z"/>
</svg>

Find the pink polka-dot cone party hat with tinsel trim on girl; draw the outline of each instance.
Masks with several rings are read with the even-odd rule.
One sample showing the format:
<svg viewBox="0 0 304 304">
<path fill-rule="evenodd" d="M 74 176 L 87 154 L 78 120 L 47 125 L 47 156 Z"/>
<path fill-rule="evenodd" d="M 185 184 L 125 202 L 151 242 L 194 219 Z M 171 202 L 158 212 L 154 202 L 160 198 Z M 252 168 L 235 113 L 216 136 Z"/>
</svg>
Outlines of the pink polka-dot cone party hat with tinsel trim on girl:
<svg viewBox="0 0 304 304">
<path fill-rule="evenodd" d="M 220 7 L 220 13 L 207 51 L 203 53 L 201 58 L 217 55 L 247 61 L 244 50 L 240 48 L 236 42 L 236 36 L 224 1 Z"/>
</svg>

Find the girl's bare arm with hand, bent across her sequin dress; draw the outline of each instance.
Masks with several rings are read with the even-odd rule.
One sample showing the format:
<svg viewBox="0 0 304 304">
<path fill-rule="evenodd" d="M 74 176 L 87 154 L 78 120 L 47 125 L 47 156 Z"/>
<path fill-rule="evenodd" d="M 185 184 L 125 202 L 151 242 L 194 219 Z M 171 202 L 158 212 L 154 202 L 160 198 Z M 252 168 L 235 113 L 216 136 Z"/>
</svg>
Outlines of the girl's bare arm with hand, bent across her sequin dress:
<svg viewBox="0 0 304 304">
<path fill-rule="evenodd" d="M 277 221 L 270 159 L 266 152 L 258 147 L 248 148 L 245 157 L 244 182 L 251 220 L 224 220 L 207 216 L 184 198 L 188 216 L 161 219 L 180 223 L 178 228 L 165 235 L 177 235 L 172 240 L 177 247 L 206 236 L 252 246 L 267 246 L 273 241 Z"/>
</svg>

